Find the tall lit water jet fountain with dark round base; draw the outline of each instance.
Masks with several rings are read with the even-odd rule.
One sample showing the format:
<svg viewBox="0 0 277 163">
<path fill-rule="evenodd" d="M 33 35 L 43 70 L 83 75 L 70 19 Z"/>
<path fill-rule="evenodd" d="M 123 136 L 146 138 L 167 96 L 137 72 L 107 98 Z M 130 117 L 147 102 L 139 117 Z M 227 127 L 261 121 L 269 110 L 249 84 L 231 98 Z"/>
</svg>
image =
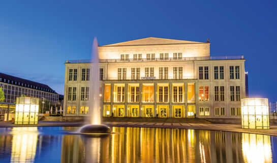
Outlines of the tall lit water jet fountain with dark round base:
<svg viewBox="0 0 277 163">
<path fill-rule="evenodd" d="M 110 133 L 111 130 L 108 126 L 101 124 L 100 113 L 100 97 L 99 97 L 99 55 L 98 55 L 98 42 L 94 39 L 93 49 L 91 51 L 91 75 L 90 75 L 90 89 L 89 89 L 89 121 L 87 125 L 81 127 L 81 133 L 87 134 L 101 134 Z"/>
</svg>

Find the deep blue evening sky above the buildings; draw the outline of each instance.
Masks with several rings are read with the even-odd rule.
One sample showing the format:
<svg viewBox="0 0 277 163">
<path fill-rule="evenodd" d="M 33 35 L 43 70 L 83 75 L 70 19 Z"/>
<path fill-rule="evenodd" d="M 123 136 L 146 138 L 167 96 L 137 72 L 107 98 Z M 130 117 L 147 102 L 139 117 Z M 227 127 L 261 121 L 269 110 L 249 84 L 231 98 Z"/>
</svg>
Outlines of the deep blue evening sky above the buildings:
<svg viewBox="0 0 277 163">
<path fill-rule="evenodd" d="M 158 3 L 159 2 L 159 3 Z M 277 101 L 274 1 L 0 2 L 0 72 L 64 94 L 65 61 L 145 37 L 211 42 L 211 56 L 244 55 L 251 97 Z"/>
</svg>

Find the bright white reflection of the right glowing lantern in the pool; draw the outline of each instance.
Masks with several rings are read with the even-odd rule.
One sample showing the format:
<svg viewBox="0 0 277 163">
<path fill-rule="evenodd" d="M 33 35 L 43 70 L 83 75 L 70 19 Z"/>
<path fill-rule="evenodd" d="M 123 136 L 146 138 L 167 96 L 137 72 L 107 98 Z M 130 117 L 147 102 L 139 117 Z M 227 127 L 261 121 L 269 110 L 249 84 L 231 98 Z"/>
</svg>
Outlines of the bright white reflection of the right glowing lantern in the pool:
<svg viewBox="0 0 277 163">
<path fill-rule="evenodd" d="M 272 162 L 270 136 L 242 133 L 242 153 L 245 162 Z"/>
</svg>

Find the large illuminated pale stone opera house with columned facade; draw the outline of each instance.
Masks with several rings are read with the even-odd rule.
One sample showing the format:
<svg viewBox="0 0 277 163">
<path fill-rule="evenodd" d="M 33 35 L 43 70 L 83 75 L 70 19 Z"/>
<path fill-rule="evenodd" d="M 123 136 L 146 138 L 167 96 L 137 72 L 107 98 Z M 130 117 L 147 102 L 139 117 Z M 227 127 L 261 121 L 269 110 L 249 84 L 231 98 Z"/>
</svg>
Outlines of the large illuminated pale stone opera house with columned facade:
<svg viewBox="0 0 277 163">
<path fill-rule="evenodd" d="M 211 57 L 209 42 L 150 37 L 99 46 L 99 59 L 104 117 L 240 118 L 243 56 Z M 85 116 L 90 60 L 65 65 L 64 116 Z"/>
</svg>

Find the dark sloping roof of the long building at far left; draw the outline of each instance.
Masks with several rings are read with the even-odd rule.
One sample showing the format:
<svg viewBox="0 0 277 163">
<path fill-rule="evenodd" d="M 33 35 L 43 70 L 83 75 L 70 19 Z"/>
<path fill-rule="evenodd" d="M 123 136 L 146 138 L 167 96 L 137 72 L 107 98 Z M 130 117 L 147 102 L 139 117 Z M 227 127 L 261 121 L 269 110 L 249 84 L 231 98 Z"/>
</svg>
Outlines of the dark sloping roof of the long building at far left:
<svg viewBox="0 0 277 163">
<path fill-rule="evenodd" d="M 4 79 L 6 79 L 5 82 L 4 82 Z M 31 89 L 56 93 L 53 89 L 51 89 L 49 86 L 47 86 L 45 84 L 33 82 L 31 80 L 27 80 L 27 79 L 24 79 L 24 78 L 8 75 L 8 74 L 5 74 L 5 73 L 0 73 L 0 82 L 8 83 L 8 84 L 11 84 L 11 85 L 16 85 L 16 86 L 21 86 L 21 87 L 27 87 L 27 88 L 31 88 L 30 86 L 32 86 Z M 20 83 L 20 85 L 19 85 L 19 83 Z M 23 86 L 22 86 L 22 84 L 23 84 Z M 26 86 L 25 86 L 25 84 L 26 84 Z M 28 87 L 28 85 L 29 85 L 29 87 Z"/>
</svg>

